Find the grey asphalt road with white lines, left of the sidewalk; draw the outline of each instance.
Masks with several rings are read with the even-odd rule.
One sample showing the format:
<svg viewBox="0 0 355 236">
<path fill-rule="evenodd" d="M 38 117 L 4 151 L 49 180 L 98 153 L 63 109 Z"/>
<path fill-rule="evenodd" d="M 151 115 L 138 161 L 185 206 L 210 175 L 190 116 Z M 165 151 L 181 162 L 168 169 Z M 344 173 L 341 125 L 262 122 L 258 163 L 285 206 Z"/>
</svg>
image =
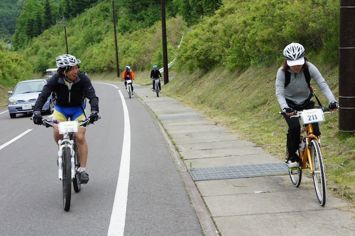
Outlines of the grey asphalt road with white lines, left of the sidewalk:
<svg viewBox="0 0 355 236">
<path fill-rule="evenodd" d="M 90 181 L 79 193 L 72 190 L 69 212 L 62 207 L 52 129 L 0 109 L 0 236 L 201 236 L 149 112 L 128 98 L 122 83 L 93 85 L 101 119 L 87 128 Z"/>
</svg>

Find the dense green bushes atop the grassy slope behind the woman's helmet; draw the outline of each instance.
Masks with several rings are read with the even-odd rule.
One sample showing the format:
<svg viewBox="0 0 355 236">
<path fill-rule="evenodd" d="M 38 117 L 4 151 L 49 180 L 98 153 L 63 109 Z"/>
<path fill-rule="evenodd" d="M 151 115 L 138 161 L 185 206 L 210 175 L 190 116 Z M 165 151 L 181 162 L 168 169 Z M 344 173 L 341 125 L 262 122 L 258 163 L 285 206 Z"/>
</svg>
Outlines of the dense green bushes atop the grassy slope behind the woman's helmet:
<svg viewBox="0 0 355 236">
<path fill-rule="evenodd" d="M 285 45 L 299 42 L 306 54 L 324 50 L 324 60 L 334 61 L 338 25 L 338 0 L 225 0 L 188 32 L 179 59 L 189 70 L 244 69 L 279 61 Z"/>
</svg>

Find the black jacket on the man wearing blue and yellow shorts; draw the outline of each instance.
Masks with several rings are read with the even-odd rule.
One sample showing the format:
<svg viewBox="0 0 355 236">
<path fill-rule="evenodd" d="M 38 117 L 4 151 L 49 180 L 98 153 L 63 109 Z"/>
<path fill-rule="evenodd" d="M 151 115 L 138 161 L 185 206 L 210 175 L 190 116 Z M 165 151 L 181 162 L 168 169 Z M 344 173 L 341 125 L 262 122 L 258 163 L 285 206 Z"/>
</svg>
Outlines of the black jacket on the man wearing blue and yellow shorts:
<svg viewBox="0 0 355 236">
<path fill-rule="evenodd" d="M 47 98 L 55 92 L 55 104 L 64 107 L 80 106 L 85 102 L 85 98 L 89 99 L 91 112 L 99 112 L 99 98 L 95 95 L 95 89 L 91 84 L 90 79 L 84 73 L 79 72 L 76 81 L 71 85 L 71 90 L 64 83 L 63 75 L 53 75 L 42 92 L 38 95 L 35 102 L 34 111 L 41 111 L 42 106 L 47 101 Z"/>
</svg>

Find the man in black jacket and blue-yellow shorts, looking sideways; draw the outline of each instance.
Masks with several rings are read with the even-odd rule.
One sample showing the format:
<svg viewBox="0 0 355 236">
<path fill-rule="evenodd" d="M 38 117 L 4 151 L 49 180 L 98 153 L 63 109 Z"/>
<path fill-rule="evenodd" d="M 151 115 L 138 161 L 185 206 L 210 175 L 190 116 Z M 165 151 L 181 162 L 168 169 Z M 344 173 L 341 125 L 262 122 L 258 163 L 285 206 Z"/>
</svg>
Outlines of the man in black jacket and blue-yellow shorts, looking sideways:
<svg viewBox="0 0 355 236">
<path fill-rule="evenodd" d="M 89 78 L 82 72 L 79 72 L 77 60 L 73 55 L 65 54 L 56 58 L 57 74 L 53 75 L 35 102 L 34 113 L 32 116 L 35 124 L 42 124 L 43 118 L 41 110 L 47 98 L 55 93 L 55 107 L 53 119 L 57 121 L 83 120 L 85 119 L 85 98 L 88 98 L 91 106 L 90 122 L 98 120 L 99 99 L 95 95 L 94 87 Z M 88 144 L 85 139 L 85 127 L 79 127 L 75 133 L 75 142 L 78 145 L 78 155 L 80 160 L 80 182 L 88 183 L 89 175 L 86 172 L 88 160 Z M 53 136 L 56 143 L 63 135 L 59 134 L 58 125 L 53 124 Z"/>
</svg>

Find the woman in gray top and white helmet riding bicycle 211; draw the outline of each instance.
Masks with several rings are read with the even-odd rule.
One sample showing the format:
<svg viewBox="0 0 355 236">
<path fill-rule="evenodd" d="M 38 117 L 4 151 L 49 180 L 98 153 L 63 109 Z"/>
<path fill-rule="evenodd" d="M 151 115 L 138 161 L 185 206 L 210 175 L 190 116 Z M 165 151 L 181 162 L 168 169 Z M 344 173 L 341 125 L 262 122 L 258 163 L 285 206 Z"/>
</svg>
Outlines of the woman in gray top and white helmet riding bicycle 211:
<svg viewBox="0 0 355 236">
<path fill-rule="evenodd" d="M 284 48 L 284 63 L 277 71 L 276 97 L 281 109 L 286 113 L 284 118 L 288 125 L 287 134 L 287 165 L 289 168 L 298 167 L 301 158 L 296 153 L 299 149 L 301 125 L 299 119 L 290 118 L 294 111 L 312 109 L 315 107 L 310 78 L 317 83 L 320 91 L 329 102 L 329 109 L 335 110 L 338 103 L 328 84 L 317 67 L 308 62 L 304 56 L 304 48 L 299 43 L 291 43 Z M 314 135 L 319 136 L 318 123 L 313 124 Z"/>
</svg>

